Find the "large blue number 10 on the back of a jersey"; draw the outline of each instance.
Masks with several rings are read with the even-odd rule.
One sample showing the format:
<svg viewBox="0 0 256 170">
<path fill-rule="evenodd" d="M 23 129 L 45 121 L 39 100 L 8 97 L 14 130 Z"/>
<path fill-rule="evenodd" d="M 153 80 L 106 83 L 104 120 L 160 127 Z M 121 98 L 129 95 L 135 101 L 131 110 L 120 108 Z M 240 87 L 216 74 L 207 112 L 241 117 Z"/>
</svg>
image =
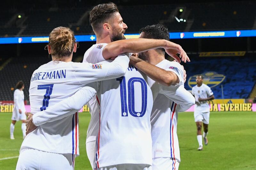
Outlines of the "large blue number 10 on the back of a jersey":
<svg viewBox="0 0 256 170">
<path fill-rule="evenodd" d="M 121 113 L 122 116 L 128 116 L 128 109 L 129 113 L 134 117 L 142 117 L 146 113 L 147 109 L 147 83 L 143 78 L 139 77 L 133 77 L 128 80 L 128 109 L 127 109 L 127 102 L 126 102 L 126 83 L 125 83 L 125 77 L 122 76 L 120 78 L 116 78 L 116 81 L 120 82 L 120 94 L 121 94 Z M 141 111 L 136 112 L 135 111 L 135 105 L 134 105 L 134 83 L 139 82 L 141 84 Z"/>
</svg>

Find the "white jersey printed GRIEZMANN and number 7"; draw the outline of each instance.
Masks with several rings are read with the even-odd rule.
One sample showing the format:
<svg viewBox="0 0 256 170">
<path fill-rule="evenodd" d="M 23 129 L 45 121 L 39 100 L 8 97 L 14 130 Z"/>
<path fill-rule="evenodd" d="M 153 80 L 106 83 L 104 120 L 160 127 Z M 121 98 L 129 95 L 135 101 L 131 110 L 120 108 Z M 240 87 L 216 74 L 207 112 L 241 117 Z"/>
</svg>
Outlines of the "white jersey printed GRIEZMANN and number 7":
<svg viewBox="0 0 256 170">
<path fill-rule="evenodd" d="M 49 62 L 34 71 L 29 88 L 31 113 L 70 97 L 81 87 L 98 80 L 124 75 L 129 57 L 122 55 L 112 63 Z M 47 122 L 29 133 L 21 150 L 32 148 L 53 153 L 79 155 L 78 110 L 54 122 Z"/>
</svg>

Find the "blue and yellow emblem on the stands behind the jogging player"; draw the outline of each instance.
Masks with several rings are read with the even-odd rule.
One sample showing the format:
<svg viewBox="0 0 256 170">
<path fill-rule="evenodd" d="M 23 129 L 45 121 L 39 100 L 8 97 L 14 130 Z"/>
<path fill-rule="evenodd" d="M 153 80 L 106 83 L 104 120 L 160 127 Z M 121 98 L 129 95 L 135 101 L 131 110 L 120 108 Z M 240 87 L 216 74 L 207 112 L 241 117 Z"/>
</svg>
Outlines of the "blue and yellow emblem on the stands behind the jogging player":
<svg viewBox="0 0 256 170">
<path fill-rule="evenodd" d="M 219 85 L 226 78 L 226 76 L 224 76 L 223 74 L 218 74 L 217 72 L 213 72 L 213 71 L 204 72 L 202 75 L 204 77 L 203 83 L 208 85 L 209 87 L 215 87 Z M 196 76 L 197 75 L 191 76 L 188 79 L 188 86 L 190 88 L 196 85 Z"/>
</svg>

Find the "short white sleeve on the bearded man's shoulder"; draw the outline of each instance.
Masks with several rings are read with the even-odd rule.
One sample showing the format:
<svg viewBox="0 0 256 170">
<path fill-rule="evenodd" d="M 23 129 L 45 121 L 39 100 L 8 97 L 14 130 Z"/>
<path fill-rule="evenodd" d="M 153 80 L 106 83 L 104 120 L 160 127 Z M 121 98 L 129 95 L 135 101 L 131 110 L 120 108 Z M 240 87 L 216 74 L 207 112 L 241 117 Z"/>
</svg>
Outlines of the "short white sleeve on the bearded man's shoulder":
<svg viewBox="0 0 256 170">
<path fill-rule="evenodd" d="M 102 55 L 103 49 L 107 46 L 107 43 L 96 44 L 84 53 L 83 62 L 87 63 L 99 63 L 106 61 Z"/>
</svg>

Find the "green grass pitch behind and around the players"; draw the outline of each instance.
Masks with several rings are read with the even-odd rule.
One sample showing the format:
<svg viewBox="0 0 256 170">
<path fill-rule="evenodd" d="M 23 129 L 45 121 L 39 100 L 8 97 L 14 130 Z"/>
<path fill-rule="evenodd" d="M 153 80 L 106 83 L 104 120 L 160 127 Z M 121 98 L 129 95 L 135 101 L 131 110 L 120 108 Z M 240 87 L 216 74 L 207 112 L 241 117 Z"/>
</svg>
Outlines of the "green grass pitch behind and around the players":
<svg viewBox="0 0 256 170">
<path fill-rule="evenodd" d="M 0 113 L 0 169 L 15 169 L 22 143 L 21 122 L 14 130 L 15 140 L 10 139 L 11 113 Z M 85 151 L 89 113 L 79 114 L 80 156 L 76 170 L 89 170 Z M 211 112 L 208 140 L 203 151 L 197 151 L 196 125 L 192 112 L 180 113 L 178 119 L 180 143 L 180 170 L 249 170 L 256 169 L 256 113 Z"/>
</svg>

